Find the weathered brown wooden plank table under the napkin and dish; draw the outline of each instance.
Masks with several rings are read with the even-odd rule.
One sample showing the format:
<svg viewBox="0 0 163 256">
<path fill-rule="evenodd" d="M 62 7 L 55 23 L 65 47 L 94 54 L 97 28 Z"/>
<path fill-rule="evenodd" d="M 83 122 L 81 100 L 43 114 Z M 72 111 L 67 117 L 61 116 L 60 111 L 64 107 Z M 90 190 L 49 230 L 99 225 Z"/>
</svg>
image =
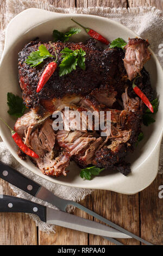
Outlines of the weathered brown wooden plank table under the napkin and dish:
<svg viewBox="0 0 163 256">
<path fill-rule="evenodd" d="M 43 2 L 43 0 L 33 1 Z M 4 8 L 4 2 L 0 1 L 0 8 Z M 163 9 L 161 0 L 48 0 L 47 2 L 63 8 L 91 6 L 127 8 L 152 5 Z M 3 186 L 4 194 L 14 195 L 7 182 L 1 180 L 0 185 Z M 163 175 L 158 175 L 151 186 L 140 193 L 127 196 L 96 190 L 80 203 L 143 239 L 155 245 L 162 245 L 163 199 L 159 199 L 158 196 L 160 185 L 163 185 Z M 80 210 L 75 210 L 74 214 L 92 220 L 89 215 Z M 61 227 L 56 228 L 56 234 L 44 233 L 26 214 L 0 214 L 0 230 L 0 245 L 112 245 L 100 236 Z M 120 241 L 126 245 L 140 244 L 134 239 Z"/>
</svg>

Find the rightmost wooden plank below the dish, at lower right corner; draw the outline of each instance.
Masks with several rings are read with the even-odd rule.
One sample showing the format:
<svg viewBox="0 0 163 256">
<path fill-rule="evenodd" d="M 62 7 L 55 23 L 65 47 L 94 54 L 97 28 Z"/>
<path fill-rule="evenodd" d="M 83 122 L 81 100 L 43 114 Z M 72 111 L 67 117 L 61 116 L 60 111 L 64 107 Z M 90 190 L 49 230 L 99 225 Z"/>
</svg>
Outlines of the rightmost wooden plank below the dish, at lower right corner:
<svg viewBox="0 0 163 256">
<path fill-rule="evenodd" d="M 140 192 L 141 236 L 154 245 L 163 244 L 163 198 L 159 198 L 159 186 L 163 174 L 158 175 L 151 186 Z"/>
</svg>

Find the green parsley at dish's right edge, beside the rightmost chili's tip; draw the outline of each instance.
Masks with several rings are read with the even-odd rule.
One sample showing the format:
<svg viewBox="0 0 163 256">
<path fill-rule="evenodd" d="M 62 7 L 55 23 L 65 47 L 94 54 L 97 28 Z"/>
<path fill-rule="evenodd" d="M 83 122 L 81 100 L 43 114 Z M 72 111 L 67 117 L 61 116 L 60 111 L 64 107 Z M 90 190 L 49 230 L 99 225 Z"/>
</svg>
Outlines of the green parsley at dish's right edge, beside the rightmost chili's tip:
<svg viewBox="0 0 163 256">
<path fill-rule="evenodd" d="M 149 109 L 146 109 L 145 114 L 143 114 L 143 124 L 145 126 L 149 126 L 150 124 L 155 122 L 152 115 L 155 114 L 156 112 L 158 112 L 159 100 L 158 99 L 153 100 L 152 106 L 153 106 L 153 111 L 154 111 L 153 113 L 151 113 L 151 111 L 149 111 Z"/>
</svg>

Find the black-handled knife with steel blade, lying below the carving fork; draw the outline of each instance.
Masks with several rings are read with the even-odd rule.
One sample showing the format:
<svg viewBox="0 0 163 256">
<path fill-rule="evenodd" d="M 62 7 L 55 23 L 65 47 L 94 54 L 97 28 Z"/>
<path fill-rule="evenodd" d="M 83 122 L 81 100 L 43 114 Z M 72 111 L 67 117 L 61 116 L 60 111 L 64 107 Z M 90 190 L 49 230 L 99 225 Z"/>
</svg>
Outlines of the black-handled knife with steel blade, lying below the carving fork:
<svg viewBox="0 0 163 256">
<path fill-rule="evenodd" d="M 124 238 L 127 235 L 101 223 L 87 220 L 67 212 L 54 210 L 32 201 L 0 195 L 0 212 L 26 212 L 39 216 L 40 220 L 47 224 L 56 224 L 61 227 L 83 231 L 94 235 Z"/>
</svg>

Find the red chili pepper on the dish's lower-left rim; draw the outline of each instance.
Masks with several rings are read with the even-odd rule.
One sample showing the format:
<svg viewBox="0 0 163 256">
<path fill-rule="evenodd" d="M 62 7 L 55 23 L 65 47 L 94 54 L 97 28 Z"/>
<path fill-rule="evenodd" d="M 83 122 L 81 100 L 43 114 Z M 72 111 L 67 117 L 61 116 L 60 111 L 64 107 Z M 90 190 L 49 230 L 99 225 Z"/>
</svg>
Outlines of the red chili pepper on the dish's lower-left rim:
<svg viewBox="0 0 163 256">
<path fill-rule="evenodd" d="M 39 158 L 39 155 L 37 155 L 32 149 L 28 148 L 26 144 L 23 143 L 20 135 L 18 135 L 17 132 L 11 129 L 11 127 L 5 123 L 5 121 L 0 117 L 0 119 L 3 121 L 5 125 L 8 126 L 8 128 L 11 131 L 12 138 L 14 139 L 15 143 L 18 145 L 18 147 L 28 156 L 35 157 L 36 159 Z"/>
</svg>

